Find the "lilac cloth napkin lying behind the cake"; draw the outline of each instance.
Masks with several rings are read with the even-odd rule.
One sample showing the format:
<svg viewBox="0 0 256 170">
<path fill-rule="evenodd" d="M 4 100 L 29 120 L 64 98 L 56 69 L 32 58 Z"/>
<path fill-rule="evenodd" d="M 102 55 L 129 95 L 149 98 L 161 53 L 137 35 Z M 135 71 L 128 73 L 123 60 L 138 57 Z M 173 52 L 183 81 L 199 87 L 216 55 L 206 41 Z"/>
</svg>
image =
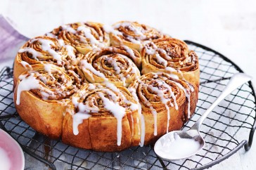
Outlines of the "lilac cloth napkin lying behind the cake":
<svg viewBox="0 0 256 170">
<path fill-rule="evenodd" d="M 0 14 L 0 70 L 6 65 L 11 66 L 9 63 L 28 39 Z"/>
</svg>

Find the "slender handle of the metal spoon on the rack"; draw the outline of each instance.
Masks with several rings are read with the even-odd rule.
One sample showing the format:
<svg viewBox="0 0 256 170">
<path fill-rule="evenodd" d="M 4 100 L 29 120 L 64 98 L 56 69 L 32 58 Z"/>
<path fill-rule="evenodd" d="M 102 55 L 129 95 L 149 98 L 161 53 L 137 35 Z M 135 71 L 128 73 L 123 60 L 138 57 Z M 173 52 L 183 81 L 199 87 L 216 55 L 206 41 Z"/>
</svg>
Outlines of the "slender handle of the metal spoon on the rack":
<svg viewBox="0 0 256 170">
<path fill-rule="evenodd" d="M 226 96 L 228 96 L 232 91 L 237 89 L 239 86 L 245 84 L 247 81 L 250 81 L 252 77 L 244 73 L 234 74 L 233 77 L 229 80 L 229 83 L 226 85 L 225 89 L 219 95 L 212 105 L 203 113 L 203 115 L 198 119 L 198 121 L 191 127 L 191 129 L 197 129 L 199 131 L 200 126 L 203 124 L 205 118 L 209 113 L 217 106 Z"/>
</svg>

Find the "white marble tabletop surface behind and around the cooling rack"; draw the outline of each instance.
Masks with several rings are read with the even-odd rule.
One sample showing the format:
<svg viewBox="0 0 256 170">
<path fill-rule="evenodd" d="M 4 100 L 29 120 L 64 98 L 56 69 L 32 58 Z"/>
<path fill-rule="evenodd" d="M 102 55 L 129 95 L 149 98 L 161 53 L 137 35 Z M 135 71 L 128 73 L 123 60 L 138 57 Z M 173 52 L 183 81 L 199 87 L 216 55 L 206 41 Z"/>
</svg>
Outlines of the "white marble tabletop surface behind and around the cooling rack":
<svg viewBox="0 0 256 170">
<path fill-rule="evenodd" d="M 68 22 L 136 20 L 219 51 L 252 75 L 256 84 L 255 0 L 1 0 L 0 13 L 27 37 Z M 212 169 L 256 169 L 255 157 L 254 140 L 249 152 L 242 149 Z"/>
</svg>

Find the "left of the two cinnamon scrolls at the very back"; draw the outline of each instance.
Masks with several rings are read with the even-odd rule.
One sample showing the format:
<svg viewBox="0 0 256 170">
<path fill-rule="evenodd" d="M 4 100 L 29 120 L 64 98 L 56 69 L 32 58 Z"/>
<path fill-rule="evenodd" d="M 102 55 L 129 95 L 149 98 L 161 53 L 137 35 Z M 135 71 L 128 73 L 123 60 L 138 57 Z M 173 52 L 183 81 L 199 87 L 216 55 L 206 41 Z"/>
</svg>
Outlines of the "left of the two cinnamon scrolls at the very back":
<svg viewBox="0 0 256 170">
<path fill-rule="evenodd" d="M 110 46 L 108 33 L 103 24 L 97 22 L 76 22 L 62 25 L 47 35 L 63 39 L 66 44 L 74 46 L 80 53 L 88 53 L 93 48 Z"/>
</svg>

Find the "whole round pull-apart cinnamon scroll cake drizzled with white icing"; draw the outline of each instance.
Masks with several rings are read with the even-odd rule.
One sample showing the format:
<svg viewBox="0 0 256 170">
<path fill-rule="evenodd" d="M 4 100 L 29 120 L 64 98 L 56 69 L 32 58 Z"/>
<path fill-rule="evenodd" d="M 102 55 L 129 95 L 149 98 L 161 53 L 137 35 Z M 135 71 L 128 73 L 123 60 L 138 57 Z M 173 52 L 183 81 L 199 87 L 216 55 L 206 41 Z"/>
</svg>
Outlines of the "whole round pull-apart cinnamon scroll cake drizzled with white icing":
<svg viewBox="0 0 256 170">
<path fill-rule="evenodd" d="M 198 101 L 198 56 L 138 22 L 62 25 L 14 62 L 20 117 L 49 138 L 116 152 L 179 130 Z"/>
</svg>

